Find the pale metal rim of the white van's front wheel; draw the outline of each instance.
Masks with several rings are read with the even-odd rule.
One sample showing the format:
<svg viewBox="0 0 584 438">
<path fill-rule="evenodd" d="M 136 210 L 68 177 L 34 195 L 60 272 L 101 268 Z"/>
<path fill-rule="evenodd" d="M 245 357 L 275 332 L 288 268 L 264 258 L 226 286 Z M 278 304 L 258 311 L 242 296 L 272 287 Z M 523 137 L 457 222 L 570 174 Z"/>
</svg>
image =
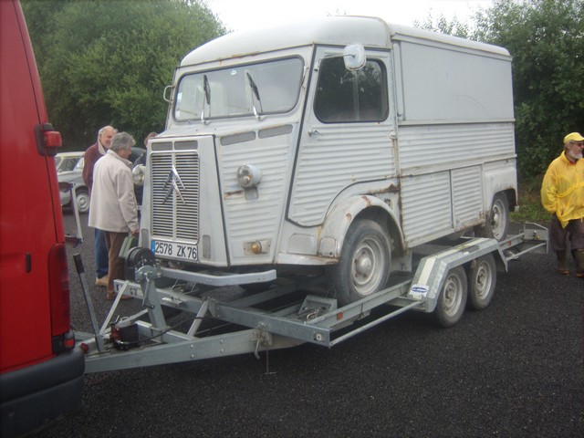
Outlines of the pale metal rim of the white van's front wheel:
<svg viewBox="0 0 584 438">
<path fill-rule="evenodd" d="M 351 279 L 358 294 L 365 296 L 378 289 L 385 263 L 383 245 L 377 239 L 367 238 L 360 242 L 351 266 Z"/>
</svg>

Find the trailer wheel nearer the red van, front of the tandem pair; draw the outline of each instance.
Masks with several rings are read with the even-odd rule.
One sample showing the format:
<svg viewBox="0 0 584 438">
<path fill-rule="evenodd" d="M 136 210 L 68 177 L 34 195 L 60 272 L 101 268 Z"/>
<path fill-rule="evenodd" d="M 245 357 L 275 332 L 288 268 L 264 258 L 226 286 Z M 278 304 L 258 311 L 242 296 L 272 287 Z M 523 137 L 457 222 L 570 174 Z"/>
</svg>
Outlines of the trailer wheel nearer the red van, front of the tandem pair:
<svg viewBox="0 0 584 438">
<path fill-rule="evenodd" d="M 453 327 L 463 318 L 467 291 L 468 280 L 463 266 L 454 267 L 446 276 L 434 309 L 434 318 L 440 326 Z"/>
</svg>

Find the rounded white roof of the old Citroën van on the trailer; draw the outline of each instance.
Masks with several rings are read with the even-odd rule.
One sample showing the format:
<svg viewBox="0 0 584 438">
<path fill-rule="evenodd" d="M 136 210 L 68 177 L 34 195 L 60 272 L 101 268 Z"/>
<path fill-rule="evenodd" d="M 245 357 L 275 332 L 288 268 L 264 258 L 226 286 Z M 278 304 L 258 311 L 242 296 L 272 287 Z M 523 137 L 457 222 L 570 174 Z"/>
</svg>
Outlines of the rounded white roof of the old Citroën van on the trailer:
<svg viewBox="0 0 584 438">
<path fill-rule="evenodd" d="M 317 44 L 347 46 L 358 42 L 364 47 L 389 48 L 393 40 L 442 43 L 504 57 L 509 56 L 509 52 L 502 47 L 414 27 L 393 25 L 378 17 L 327 16 L 220 36 L 195 48 L 183 58 L 181 66 L 243 57 L 286 47 Z"/>
</svg>

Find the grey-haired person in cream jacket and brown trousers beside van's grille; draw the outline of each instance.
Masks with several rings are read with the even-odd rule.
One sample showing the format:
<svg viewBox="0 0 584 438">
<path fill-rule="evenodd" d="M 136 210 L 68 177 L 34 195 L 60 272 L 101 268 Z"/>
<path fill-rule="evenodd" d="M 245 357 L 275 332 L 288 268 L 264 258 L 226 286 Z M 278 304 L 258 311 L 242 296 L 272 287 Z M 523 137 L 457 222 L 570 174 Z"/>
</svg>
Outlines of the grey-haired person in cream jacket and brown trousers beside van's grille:
<svg viewBox="0 0 584 438">
<path fill-rule="evenodd" d="M 124 262 L 119 256 L 121 245 L 129 233 L 139 233 L 131 162 L 128 161 L 134 144 L 136 141 L 126 132 L 114 135 L 110 150 L 96 162 L 93 171 L 89 226 L 105 233 L 110 267 L 106 299 L 114 298 L 113 280 L 124 278 Z"/>
</svg>

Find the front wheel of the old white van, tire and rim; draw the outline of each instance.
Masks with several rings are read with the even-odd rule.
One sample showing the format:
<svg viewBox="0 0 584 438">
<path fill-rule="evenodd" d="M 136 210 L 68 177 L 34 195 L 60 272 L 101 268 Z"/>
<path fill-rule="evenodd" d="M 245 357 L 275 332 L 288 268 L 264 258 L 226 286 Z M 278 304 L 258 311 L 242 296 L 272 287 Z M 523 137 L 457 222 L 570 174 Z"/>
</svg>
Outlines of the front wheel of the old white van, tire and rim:
<svg viewBox="0 0 584 438">
<path fill-rule="evenodd" d="M 328 271 L 339 305 L 345 306 L 380 291 L 388 282 L 390 268 L 391 246 L 387 233 L 374 221 L 356 220 L 345 236 L 339 263 Z"/>
</svg>

